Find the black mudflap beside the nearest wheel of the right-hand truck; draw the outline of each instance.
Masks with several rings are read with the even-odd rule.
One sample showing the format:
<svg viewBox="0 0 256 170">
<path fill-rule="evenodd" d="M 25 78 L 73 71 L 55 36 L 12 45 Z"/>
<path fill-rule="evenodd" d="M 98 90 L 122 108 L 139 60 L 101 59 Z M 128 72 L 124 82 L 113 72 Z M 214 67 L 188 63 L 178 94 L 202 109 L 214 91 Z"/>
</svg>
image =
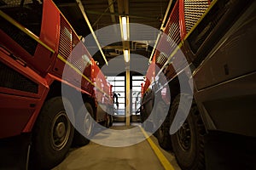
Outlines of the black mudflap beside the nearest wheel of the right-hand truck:
<svg viewBox="0 0 256 170">
<path fill-rule="evenodd" d="M 256 138 L 209 132 L 205 136 L 207 170 L 256 169 Z"/>
</svg>

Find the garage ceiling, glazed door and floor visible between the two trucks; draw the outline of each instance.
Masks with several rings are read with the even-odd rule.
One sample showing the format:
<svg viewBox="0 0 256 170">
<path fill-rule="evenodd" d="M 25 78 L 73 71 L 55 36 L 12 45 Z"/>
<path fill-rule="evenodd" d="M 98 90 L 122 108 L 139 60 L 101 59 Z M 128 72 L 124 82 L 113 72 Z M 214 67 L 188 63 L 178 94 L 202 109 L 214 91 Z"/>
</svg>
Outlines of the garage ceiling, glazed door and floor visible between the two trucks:
<svg viewBox="0 0 256 170">
<path fill-rule="evenodd" d="M 67 20 L 70 21 L 79 36 L 86 37 L 91 34 L 88 23 L 84 20 L 84 16 L 81 14 L 76 2 L 54 2 L 61 9 L 61 12 L 67 16 Z M 122 16 L 125 16 L 129 23 L 138 23 L 151 26 L 157 31 L 160 30 L 160 27 L 165 24 L 168 14 L 170 15 L 170 8 L 175 2 L 168 0 L 100 0 L 81 1 L 81 3 L 83 3 L 84 11 L 94 31 L 117 24 L 118 27 L 116 29 L 119 32 Z M 166 19 L 164 20 L 165 17 Z M 108 38 L 108 31 L 110 30 L 107 29 L 107 35 L 103 35 L 106 37 L 100 38 L 102 39 L 101 41 L 104 41 L 104 38 Z M 108 61 L 107 67 L 106 61 L 99 50 L 93 56 L 99 67 L 102 68 L 108 82 L 113 86 L 113 93 L 117 96 L 113 98 L 114 115 L 111 129 L 122 131 L 126 128 L 142 125 L 139 111 L 142 99 L 141 84 L 145 80 L 148 59 L 153 52 L 157 35 L 144 34 L 144 36 L 148 38 L 142 38 L 142 41 L 138 41 L 139 39 L 137 38 L 135 41 L 131 40 L 128 44 L 125 44 L 121 39 L 120 42 L 111 42 L 111 44 L 103 47 L 102 52 Z M 128 70 L 125 69 L 123 62 L 124 49 L 129 49 L 130 58 L 133 59 L 130 61 L 131 65 Z M 143 59 L 140 59 L 140 57 L 143 57 Z M 107 71 L 105 71 L 105 67 Z M 127 92 L 127 88 L 129 92 Z M 129 104 L 127 104 L 127 93 L 130 94 Z M 127 108 L 130 110 L 128 113 L 130 116 L 127 116 Z M 156 150 L 152 149 L 154 146 L 148 144 L 147 140 L 138 144 L 127 144 L 127 146 L 119 147 L 119 142 L 125 144 L 125 140 L 132 141 L 131 138 L 134 138 L 134 136 L 131 135 L 120 136 L 118 133 L 106 132 L 96 134 L 95 138 L 106 138 L 107 141 L 108 139 L 110 141 L 116 138 L 119 139 L 116 139 L 118 141 L 113 141 L 117 143 L 116 146 L 108 146 L 108 144 L 104 146 L 91 141 L 90 144 L 82 148 L 73 148 L 70 151 L 70 157 L 67 157 L 53 169 L 181 169 L 177 165 L 172 152 L 162 149 L 153 135 L 150 138 L 158 148 L 157 150 L 160 150 L 159 155 L 155 154 Z M 159 160 L 160 156 L 165 157 L 162 159 L 167 161 L 166 165 L 163 165 L 163 161 Z"/>
</svg>

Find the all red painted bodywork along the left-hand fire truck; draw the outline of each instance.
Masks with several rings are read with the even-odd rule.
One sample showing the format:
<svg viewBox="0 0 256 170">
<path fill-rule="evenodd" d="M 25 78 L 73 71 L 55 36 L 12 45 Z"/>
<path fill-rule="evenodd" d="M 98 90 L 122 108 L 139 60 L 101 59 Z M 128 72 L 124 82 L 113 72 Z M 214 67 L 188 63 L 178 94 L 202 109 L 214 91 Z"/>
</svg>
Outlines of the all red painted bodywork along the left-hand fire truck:
<svg viewBox="0 0 256 170">
<path fill-rule="evenodd" d="M 51 0 L 44 0 L 41 31 L 39 37 L 34 36 L 38 39 L 38 45 L 33 56 L 9 37 L 8 33 L 0 30 L 0 44 L 4 47 L 0 48 L 0 61 L 3 65 L 9 66 L 9 68 L 38 84 L 38 94 L 0 87 L 0 139 L 32 131 L 33 124 L 37 120 L 41 107 L 44 105 L 44 100 L 48 95 L 50 85 L 55 81 L 64 82 L 68 86 L 81 91 L 82 94 L 88 94 L 88 96 L 96 96 L 96 88 L 90 83 L 94 82 L 102 88 L 98 101 L 105 105 L 113 104 L 110 85 L 85 47 L 82 47 L 81 53 L 90 58 L 92 65 L 88 65 L 80 73 L 69 67 L 72 70 L 73 80 L 62 80 L 62 71 L 66 63 L 58 58 L 58 54 L 60 54 L 61 20 L 66 23 L 67 29 L 72 32 L 72 41 L 69 46 L 69 52 L 71 52 L 75 45 L 79 43 L 79 37 Z M 39 41 L 44 42 L 51 50 Z M 67 45 L 67 43 L 64 44 L 65 47 Z M 10 57 L 12 54 L 24 60 L 26 66 L 20 65 L 17 60 L 12 59 Z M 67 56 L 61 57 L 67 59 L 69 54 L 67 53 Z M 67 62 L 72 63 L 74 68 L 84 68 L 81 56 L 79 57 L 79 65 L 74 65 L 70 59 L 67 59 Z M 84 73 L 84 76 L 88 77 L 90 82 L 83 77 L 81 85 L 78 84 L 76 80 L 81 79 L 81 73 Z"/>
</svg>

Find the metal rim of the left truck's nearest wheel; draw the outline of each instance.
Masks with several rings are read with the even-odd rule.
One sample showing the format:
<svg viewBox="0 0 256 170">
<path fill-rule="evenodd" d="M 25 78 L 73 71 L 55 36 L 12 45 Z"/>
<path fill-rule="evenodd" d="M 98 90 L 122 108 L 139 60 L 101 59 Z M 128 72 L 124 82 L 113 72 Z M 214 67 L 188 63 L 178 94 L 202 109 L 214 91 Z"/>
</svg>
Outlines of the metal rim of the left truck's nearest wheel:
<svg viewBox="0 0 256 170">
<path fill-rule="evenodd" d="M 71 132 L 71 124 L 65 111 L 56 114 L 51 126 L 51 146 L 54 150 L 61 150 L 67 144 Z"/>
</svg>

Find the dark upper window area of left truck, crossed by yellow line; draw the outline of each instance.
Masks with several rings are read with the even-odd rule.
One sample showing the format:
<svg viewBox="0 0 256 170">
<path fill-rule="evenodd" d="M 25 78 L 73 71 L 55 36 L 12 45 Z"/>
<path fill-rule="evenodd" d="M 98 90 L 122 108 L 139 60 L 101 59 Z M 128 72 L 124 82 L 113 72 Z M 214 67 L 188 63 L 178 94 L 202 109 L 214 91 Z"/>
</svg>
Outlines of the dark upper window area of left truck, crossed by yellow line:
<svg viewBox="0 0 256 170">
<path fill-rule="evenodd" d="M 36 36 L 40 36 L 41 22 L 43 14 L 43 3 L 35 0 L 2 0 L 0 1 L 0 10 L 8 14 L 13 20 L 16 20 L 21 26 L 32 31 Z M 29 54 L 35 53 L 38 42 L 29 37 L 25 32 L 14 26 L 2 17 L 0 18 L 0 28 L 9 35 L 15 42 Z"/>
</svg>

